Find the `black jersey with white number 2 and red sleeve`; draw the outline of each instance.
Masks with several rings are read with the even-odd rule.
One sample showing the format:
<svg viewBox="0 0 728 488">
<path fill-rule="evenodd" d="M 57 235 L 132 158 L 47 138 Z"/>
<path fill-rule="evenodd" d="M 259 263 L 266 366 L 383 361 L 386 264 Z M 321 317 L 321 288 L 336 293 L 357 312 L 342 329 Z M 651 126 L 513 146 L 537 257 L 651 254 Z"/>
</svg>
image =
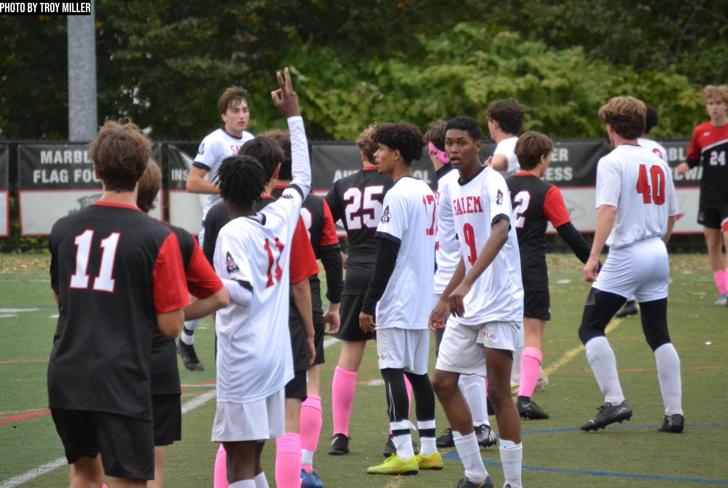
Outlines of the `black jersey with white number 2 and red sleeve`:
<svg viewBox="0 0 728 488">
<path fill-rule="evenodd" d="M 563 197 L 553 186 L 531 173 L 518 173 L 506 179 L 513 202 L 513 224 L 521 251 L 521 275 L 524 291 L 547 291 L 546 229 L 551 222 L 559 235 L 584 262 L 589 245 L 569 217 Z"/>
</svg>

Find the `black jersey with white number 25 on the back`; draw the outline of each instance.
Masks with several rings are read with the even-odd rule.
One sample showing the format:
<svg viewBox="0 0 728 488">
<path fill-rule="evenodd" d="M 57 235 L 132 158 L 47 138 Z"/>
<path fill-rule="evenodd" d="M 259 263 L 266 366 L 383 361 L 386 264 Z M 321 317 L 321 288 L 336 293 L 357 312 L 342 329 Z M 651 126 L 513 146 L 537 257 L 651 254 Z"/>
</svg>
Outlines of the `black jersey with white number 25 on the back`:
<svg viewBox="0 0 728 488">
<path fill-rule="evenodd" d="M 363 168 L 340 178 L 326 195 L 331 216 L 349 237 L 344 295 L 365 295 L 371 281 L 379 238 L 375 237 L 382 213 L 384 194 L 394 186 L 392 177 L 376 168 Z"/>
</svg>

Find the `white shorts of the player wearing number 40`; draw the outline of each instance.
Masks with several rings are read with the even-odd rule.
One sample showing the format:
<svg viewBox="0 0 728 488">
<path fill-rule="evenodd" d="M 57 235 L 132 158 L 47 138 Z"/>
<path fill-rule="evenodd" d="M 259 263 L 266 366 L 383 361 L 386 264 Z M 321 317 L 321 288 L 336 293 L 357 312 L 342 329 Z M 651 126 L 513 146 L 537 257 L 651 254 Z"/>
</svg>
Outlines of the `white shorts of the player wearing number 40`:
<svg viewBox="0 0 728 488">
<path fill-rule="evenodd" d="M 610 249 L 593 287 L 637 302 L 667 298 L 670 261 L 660 238 Z"/>
</svg>

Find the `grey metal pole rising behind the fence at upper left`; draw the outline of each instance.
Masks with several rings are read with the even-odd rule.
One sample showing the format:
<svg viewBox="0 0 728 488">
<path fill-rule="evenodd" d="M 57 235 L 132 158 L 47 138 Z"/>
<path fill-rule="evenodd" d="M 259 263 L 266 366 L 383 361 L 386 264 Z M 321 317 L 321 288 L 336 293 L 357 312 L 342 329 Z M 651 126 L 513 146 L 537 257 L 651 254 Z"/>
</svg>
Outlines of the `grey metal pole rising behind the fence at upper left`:
<svg viewBox="0 0 728 488">
<path fill-rule="evenodd" d="M 98 132 L 96 114 L 96 12 L 68 15 L 68 139 L 92 141 Z"/>
</svg>

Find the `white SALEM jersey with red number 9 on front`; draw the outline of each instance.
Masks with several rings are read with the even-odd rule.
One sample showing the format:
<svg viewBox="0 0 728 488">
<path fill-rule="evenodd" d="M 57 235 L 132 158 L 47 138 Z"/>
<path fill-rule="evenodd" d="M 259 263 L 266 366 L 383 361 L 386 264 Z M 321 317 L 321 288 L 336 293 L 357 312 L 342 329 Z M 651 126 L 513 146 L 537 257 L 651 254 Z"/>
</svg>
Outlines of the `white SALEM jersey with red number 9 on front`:
<svg viewBox="0 0 728 488">
<path fill-rule="evenodd" d="M 440 197 L 450 205 L 454 231 L 460 244 L 465 272 L 470 272 L 478 254 L 500 219 L 509 222 L 508 240 L 493 262 L 475 280 L 465 296 L 465 315 L 457 321 L 468 326 L 523 320 L 521 254 L 515 233 L 513 210 L 505 179 L 492 168 L 483 167 L 470 181 L 448 181 Z M 447 202 L 447 203 L 445 203 Z"/>
</svg>

